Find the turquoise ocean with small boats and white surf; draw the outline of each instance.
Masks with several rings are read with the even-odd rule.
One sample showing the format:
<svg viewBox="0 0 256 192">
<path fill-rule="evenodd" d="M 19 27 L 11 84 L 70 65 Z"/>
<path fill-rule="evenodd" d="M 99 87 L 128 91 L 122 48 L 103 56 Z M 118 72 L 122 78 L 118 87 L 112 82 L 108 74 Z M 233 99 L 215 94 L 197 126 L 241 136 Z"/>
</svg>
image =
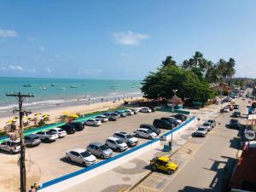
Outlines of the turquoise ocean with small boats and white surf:
<svg viewBox="0 0 256 192">
<path fill-rule="evenodd" d="M 140 87 L 139 80 L 0 78 L 0 115 L 17 107 L 9 92 L 33 93 L 24 107 L 38 109 L 142 96 Z"/>
</svg>

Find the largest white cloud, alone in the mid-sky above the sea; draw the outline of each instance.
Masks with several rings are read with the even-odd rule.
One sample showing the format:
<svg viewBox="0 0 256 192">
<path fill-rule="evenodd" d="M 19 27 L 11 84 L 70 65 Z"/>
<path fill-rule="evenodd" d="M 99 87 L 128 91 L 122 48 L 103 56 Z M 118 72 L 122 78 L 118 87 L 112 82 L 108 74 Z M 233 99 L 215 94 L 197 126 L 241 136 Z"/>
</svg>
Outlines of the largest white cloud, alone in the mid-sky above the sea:
<svg viewBox="0 0 256 192">
<path fill-rule="evenodd" d="M 142 40 L 150 38 L 148 34 L 136 33 L 136 32 L 114 32 L 114 42 L 116 44 L 135 45 L 140 44 Z"/>
</svg>

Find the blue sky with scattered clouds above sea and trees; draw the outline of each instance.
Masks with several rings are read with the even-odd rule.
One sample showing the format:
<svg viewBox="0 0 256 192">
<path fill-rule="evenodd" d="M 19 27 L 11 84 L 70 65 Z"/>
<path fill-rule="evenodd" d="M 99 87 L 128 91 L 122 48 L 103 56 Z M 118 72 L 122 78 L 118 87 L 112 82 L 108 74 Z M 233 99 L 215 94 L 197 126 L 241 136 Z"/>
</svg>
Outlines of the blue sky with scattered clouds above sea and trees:
<svg viewBox="0 0 256 192">
<path fill-rule="evenodd" d="M 143 79 L 199 50 L 256 78 L 255 0 L 0 0 L 0 77 Z"/>
</svg>

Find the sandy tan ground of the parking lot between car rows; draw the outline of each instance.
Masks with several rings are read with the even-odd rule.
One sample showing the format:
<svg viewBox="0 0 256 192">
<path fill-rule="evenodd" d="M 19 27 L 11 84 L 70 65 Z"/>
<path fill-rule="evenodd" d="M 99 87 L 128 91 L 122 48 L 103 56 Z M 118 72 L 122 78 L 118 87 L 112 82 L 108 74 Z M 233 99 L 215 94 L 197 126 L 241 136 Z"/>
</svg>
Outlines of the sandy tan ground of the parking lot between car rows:
<svg viewBox="0 0 256 192">
<path fill-rule="evenodd" d="M 82 166 L 71 164 L 65 160 L 67 150 L 73 148 L 86 148 L 89 143 L 105 143 L 107 137 L 112 137 L 114 131 L 126 131 L 133 133 L 140 124 L 152 124 L 154 119 L 170 116 L 170 113 L 137 113 L 136 115 L 120 118 L 118 121 L 103 123 L 99 127 L 85 126 L 84 131 L 78 131 L 73 135 L 57 139 L 54 143 L 41 143 L 35 148 L 26 148 L 26 171 L 28 184 L 32 182 L 44 183 L 55 177 L 61 177 L 70 172 L 78 171 Z M 167 130 L 161 130 L 161 134 Z M 160 135 L 161 135 L 160 134 Z M 139 138 L 139 143 L 147 142 L 147 139 Z M 129 150 L 129 148 L 128 148 Z M 117 152 L 114 152 L 116 154 Z M 14 191 L 19 186 L 19 167 L 17 160 L 19 154 L 0 153 L 0 191 Z M 97 162 L 100 161 L 97 159 Z M 10 186 L 14 189 L 10 189 Z M 7 187 L 9 189 L 7 189 Z"/>
</svg>

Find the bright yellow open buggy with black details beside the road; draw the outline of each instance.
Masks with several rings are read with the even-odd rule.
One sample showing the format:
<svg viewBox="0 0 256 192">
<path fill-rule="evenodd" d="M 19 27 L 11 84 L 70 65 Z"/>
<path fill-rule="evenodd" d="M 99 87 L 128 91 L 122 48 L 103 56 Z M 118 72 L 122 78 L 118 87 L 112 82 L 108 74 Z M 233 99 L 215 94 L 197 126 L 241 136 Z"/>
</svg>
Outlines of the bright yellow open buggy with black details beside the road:
<svg viewBox="0 0 256 192">
<path fill-rule="evenodd" d="M 153 160 L 150 160 L 151 170 L 153 172 L 160 170 L 167 172 L 171 175 L 177 171 L 177 163 L 173 162 L 170 158 L 166 156 L 154 157 Z"/>
</svg>

